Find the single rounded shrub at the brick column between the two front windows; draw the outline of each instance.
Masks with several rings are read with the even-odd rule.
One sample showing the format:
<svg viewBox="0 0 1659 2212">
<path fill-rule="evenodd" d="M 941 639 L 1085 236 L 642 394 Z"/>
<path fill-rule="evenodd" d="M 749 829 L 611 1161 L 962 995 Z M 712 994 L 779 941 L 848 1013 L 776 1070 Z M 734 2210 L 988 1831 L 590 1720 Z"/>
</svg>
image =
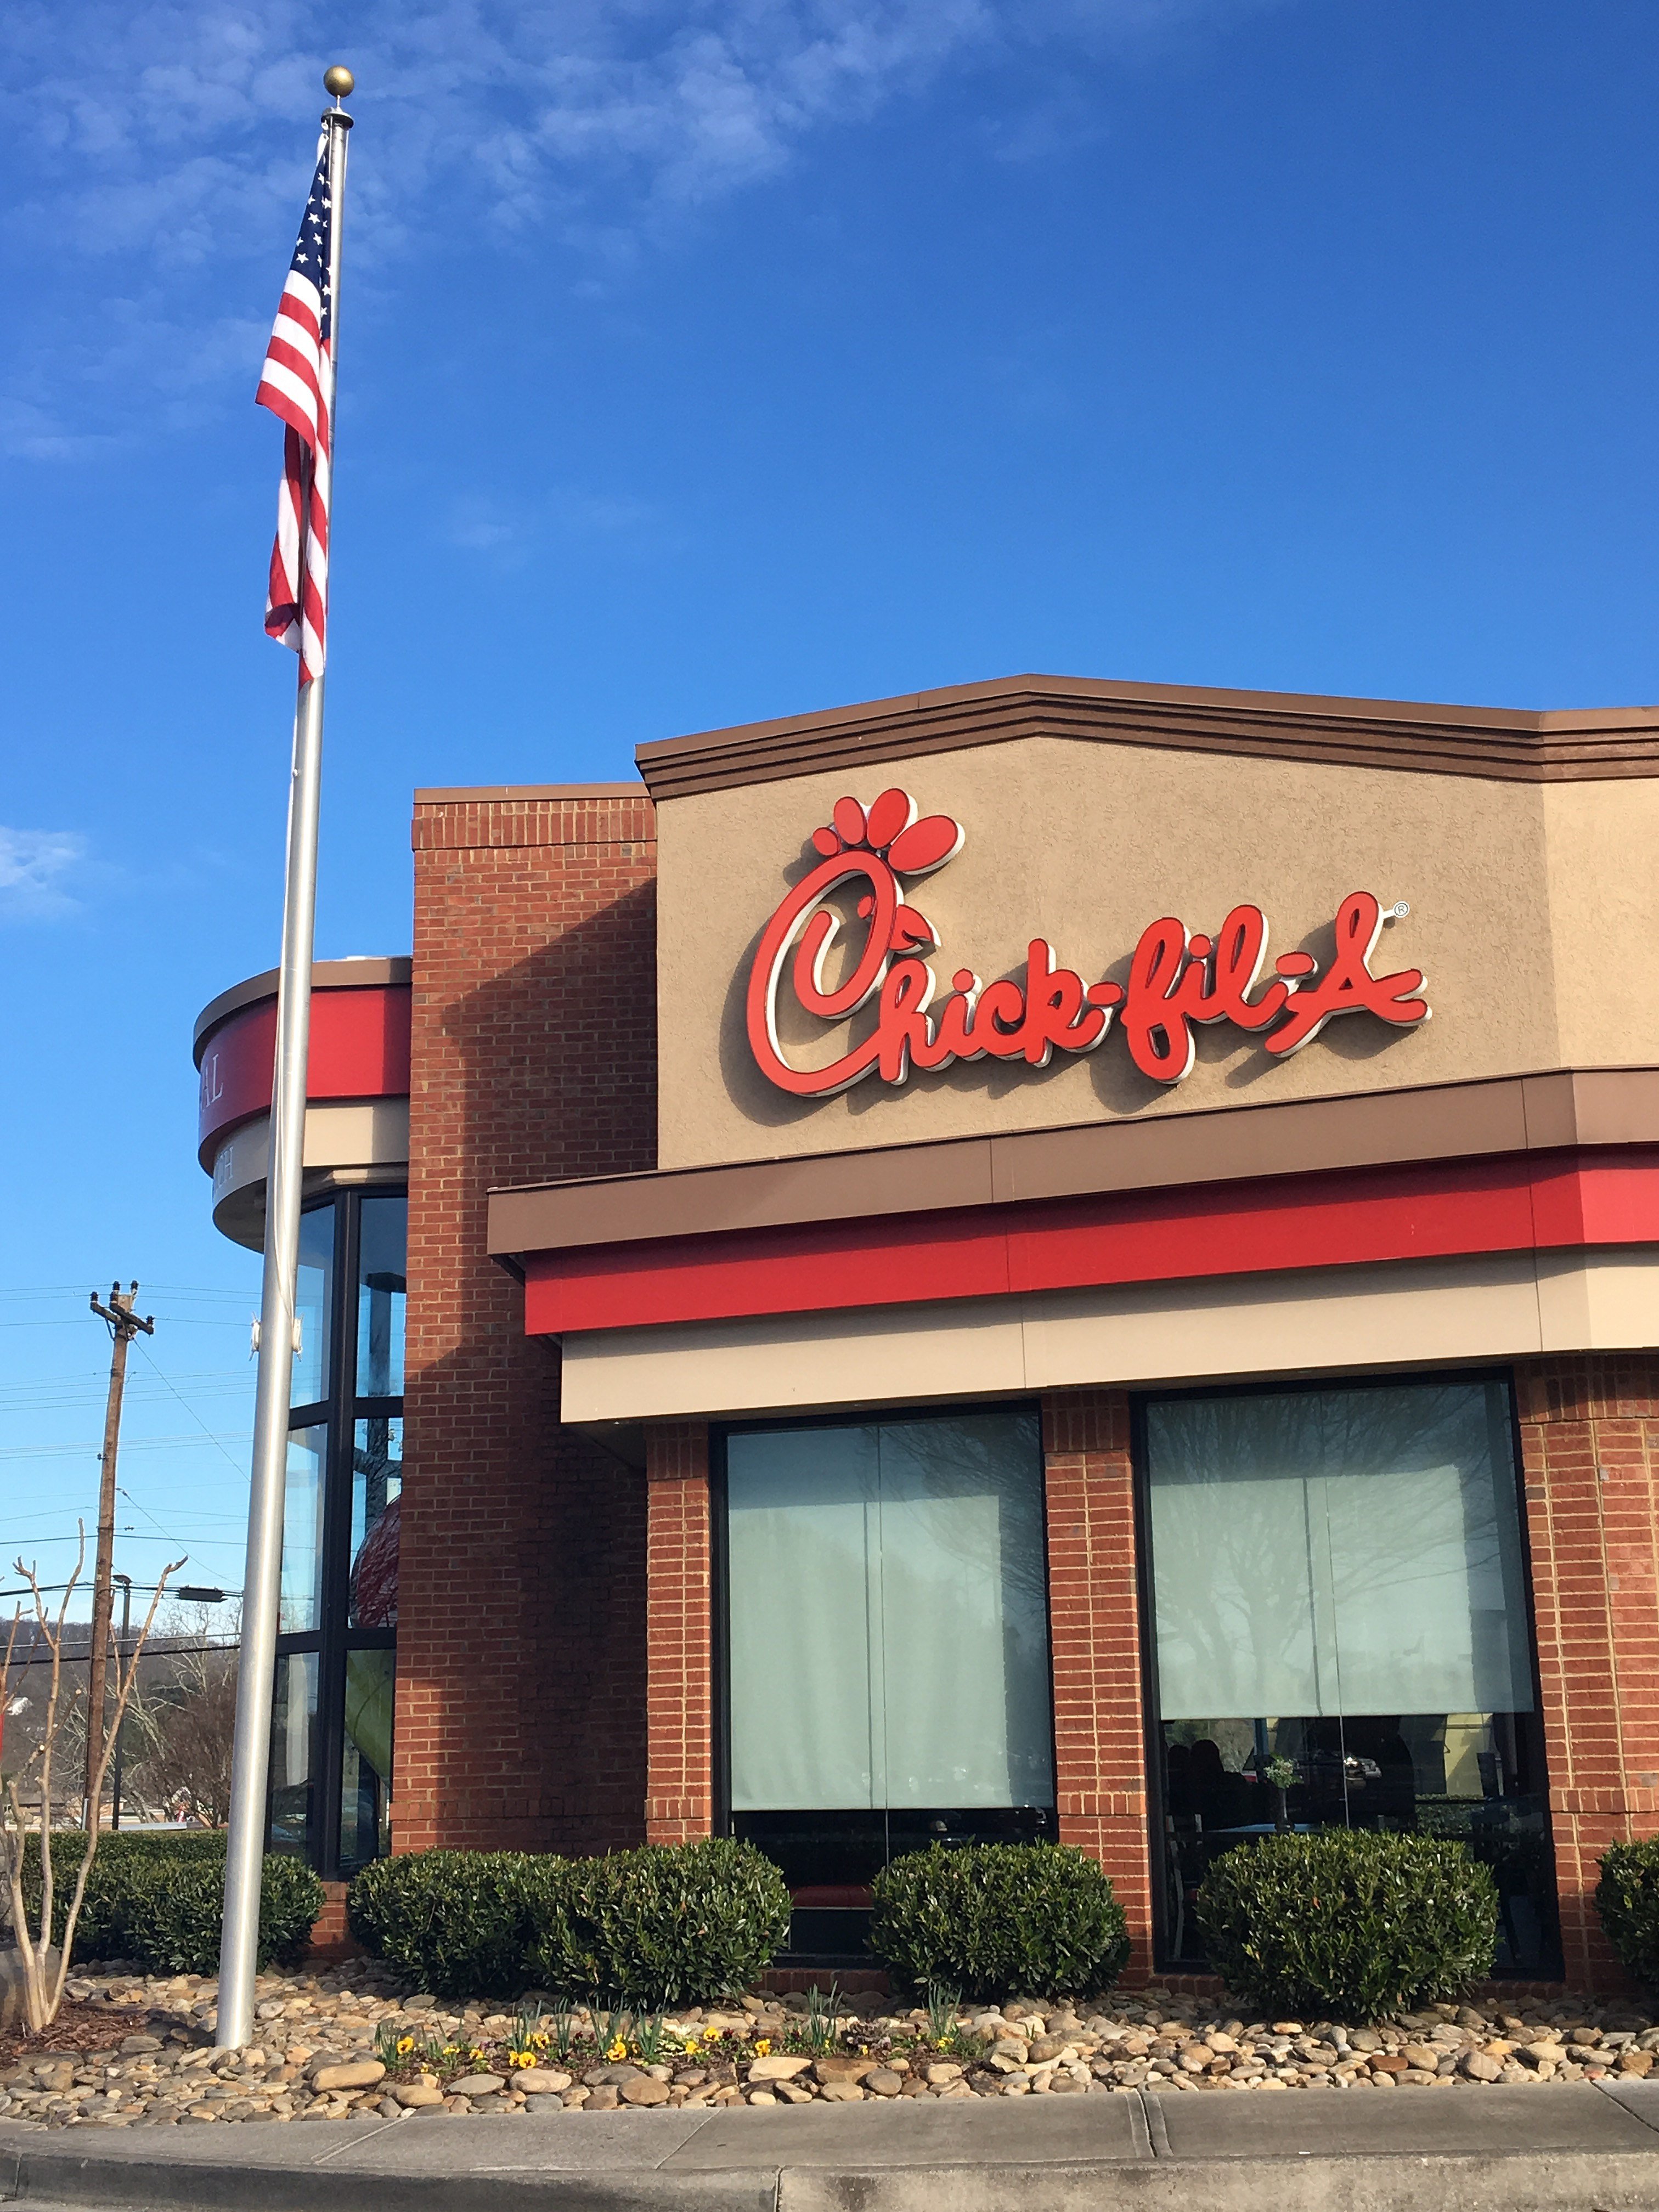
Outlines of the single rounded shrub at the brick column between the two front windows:
<svg viewBox="0 0 1659 2212">
<path fill-rule="evenodd" d="M 911 1851 L 876 1876 L 872 1902 L 869 1949 L 907 1989 L 1093 1995 L 1128 1958 L 1110 1880 L 1055 1843 Z"/>
</svg>

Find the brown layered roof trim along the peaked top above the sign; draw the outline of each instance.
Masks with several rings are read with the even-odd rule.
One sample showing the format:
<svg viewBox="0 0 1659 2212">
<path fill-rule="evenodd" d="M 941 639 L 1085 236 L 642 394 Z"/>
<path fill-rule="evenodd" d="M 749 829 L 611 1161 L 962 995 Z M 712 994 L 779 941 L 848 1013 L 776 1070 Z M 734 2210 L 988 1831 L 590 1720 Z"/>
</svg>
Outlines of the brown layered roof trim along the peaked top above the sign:
<svg viewBox="0 0 1659 2212">
<path fill-rule="evenodd" d="M 1022 737 L 1498 783 L 1659 776 L 1659 708 L 1650 706 L 1535 712 L 1037 675 L 670 737 L 639 745 L 635 759 L 650 796 L 664 801 Z"/>
</svg>

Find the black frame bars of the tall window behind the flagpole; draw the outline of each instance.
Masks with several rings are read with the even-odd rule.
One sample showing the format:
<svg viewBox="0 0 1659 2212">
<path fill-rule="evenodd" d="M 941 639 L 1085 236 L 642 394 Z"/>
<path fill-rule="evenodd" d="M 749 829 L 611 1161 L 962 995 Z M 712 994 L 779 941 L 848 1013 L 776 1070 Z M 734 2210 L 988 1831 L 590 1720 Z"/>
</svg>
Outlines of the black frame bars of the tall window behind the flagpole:
<svg viewBox="0 0 1659 2212">
<path fill-rule="evenodd" d="M 358 1420 L 403 1420 L 403 1394 L 387 1398 L 356 1396 L 356 1305 L 358 1252 L 363 1241 L 363 1203 L 398 1199 L 403 1186 L 363 1183 L 330 1190 L 312 1199 L 303 1212 L 334 1212 L 334 1272 L 327 1296 L 330 1371 L 327 1396 L 312 1405 L 288 1409 L 288 1433 L 323 1429 L 323 1571 L 319 1586 L 319 1624 L 301 1635 L 279 1635 L 276 1657 L 316 1652 L 316 1717 L 310 1741 L 310 1865 L 325 1882 L 356 1871 L 341 1865 L 341 1794 L 345 1783 L 345 1661 L 354 1650 L 398 1648 L 396 1628 L 352 1628 L 352 1484 Z M 396 1659 L 394 1659 L 396 1672 Z M 265 1843 L 270 1847 L 272 1807 L 265 1805 Z"/>
</svg>

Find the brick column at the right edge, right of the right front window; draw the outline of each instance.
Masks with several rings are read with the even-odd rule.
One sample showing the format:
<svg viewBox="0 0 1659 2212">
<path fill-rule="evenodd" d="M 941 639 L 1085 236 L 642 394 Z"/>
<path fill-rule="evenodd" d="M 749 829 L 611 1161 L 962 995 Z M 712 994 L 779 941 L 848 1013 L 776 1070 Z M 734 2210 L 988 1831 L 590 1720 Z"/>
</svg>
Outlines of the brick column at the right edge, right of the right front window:
<svg viewBox="0 0 1659 2212">
<path fill-rule="evenodd" d="M 1515 1369 L 1566 1980 L 1624 1978 L 1597 1854 L 1659 1834 L 1659 1358 Z"/>
</svg>

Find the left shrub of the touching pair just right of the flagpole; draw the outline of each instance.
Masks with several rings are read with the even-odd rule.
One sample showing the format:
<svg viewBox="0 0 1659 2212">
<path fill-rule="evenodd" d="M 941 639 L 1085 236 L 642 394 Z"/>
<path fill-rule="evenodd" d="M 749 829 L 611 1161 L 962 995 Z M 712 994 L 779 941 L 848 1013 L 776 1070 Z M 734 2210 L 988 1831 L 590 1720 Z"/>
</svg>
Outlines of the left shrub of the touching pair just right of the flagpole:
<svg viewBox="0 0 1659 2212">
<path fill-rule="evenodd" d="M 376 1858 L 345 1893 L 352 1933 L 440 1997 L 515 1997 L 562 1867 L 524 1851 Z"/>
</svg>

